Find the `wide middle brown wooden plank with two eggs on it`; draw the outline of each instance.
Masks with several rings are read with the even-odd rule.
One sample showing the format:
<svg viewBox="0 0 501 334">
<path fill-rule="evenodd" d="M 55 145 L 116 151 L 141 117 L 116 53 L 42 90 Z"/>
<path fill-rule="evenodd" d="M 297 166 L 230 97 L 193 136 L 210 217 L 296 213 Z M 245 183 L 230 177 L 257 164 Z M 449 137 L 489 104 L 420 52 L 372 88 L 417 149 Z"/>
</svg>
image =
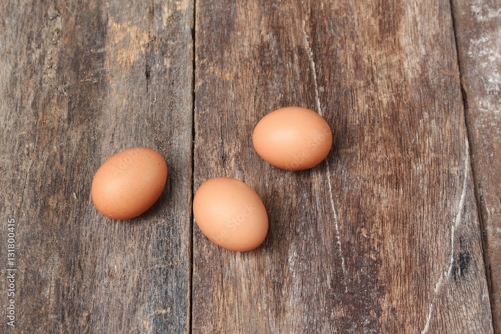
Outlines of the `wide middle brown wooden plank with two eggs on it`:
<svg viewBox="0 0 501 334">
<path fill-rule="evenodd" d="M 194 189 L 253 187 L 270 231 L 193 229 L 193 332 L 492 332 L 448 2 L 196 2 Z M 251 135 L 302 106 L 326 161 L 276 169 Z"/>
</svg>

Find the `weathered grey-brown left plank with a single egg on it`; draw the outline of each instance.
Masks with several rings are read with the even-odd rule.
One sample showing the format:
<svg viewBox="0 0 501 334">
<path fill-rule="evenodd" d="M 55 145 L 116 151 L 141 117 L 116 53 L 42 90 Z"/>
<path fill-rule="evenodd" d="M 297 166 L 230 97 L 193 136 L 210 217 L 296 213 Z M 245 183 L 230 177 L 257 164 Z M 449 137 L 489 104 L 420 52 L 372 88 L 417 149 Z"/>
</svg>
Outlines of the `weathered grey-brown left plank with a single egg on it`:
<svg viewBox="0 0 501 334">
<path fill-rule="evenodd" d="M 16 328 L 3 316 L 0 331 L 186 331 L 192 2 L 3 1 L 0 18 L 0 255 L 14 218 L 18 269 Z M 165 157 L 168 184 L 110 220 L 92 177 L 137 146 Z"/>
</svg>

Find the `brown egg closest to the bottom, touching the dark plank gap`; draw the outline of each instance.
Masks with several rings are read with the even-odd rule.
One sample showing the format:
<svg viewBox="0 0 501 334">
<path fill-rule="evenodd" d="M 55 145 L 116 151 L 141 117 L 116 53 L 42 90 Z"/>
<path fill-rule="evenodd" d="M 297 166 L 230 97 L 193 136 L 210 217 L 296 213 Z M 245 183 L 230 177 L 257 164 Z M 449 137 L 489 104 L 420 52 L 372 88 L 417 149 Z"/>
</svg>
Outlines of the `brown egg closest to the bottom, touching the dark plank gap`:
<svg viewBox="0 0 501 334">
<path fill-rule="evenodd" d="M 268 215 L 261 198 L 231 177 L 205 181 L 193 198 L 193 215 L 207 238 L 229 250 L 254 249 L 268 233 Z"/>
</svg>

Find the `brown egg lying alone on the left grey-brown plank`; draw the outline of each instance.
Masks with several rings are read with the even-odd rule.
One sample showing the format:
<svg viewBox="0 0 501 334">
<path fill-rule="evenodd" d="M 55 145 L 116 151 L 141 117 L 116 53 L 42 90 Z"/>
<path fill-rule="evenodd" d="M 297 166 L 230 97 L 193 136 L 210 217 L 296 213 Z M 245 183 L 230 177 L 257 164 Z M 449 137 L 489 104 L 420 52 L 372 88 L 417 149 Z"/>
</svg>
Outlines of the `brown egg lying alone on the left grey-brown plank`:
<svg viewBox="0 0 501 334">
<path fill-rule="evenodd" d="M 99 167 L 91 186 L 96 208 L 113 219 L 131 219 L 148 210 L 160 197 L 167 164 L 149 148 L 130 148 Z"/>
</svg>

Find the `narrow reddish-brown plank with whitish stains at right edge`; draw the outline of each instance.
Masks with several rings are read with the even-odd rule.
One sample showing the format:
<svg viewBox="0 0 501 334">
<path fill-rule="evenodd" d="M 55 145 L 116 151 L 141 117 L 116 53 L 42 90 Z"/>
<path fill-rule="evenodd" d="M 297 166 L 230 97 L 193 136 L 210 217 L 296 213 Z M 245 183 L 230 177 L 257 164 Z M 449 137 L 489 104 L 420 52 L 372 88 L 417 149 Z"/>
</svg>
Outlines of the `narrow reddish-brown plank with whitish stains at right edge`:
<svg viewBox="0 0 501 334">
<path fill-rule="evenodd" d="M 501 333 L 501 3 L 452 4 L 492 319 Z"/>
</svg>

